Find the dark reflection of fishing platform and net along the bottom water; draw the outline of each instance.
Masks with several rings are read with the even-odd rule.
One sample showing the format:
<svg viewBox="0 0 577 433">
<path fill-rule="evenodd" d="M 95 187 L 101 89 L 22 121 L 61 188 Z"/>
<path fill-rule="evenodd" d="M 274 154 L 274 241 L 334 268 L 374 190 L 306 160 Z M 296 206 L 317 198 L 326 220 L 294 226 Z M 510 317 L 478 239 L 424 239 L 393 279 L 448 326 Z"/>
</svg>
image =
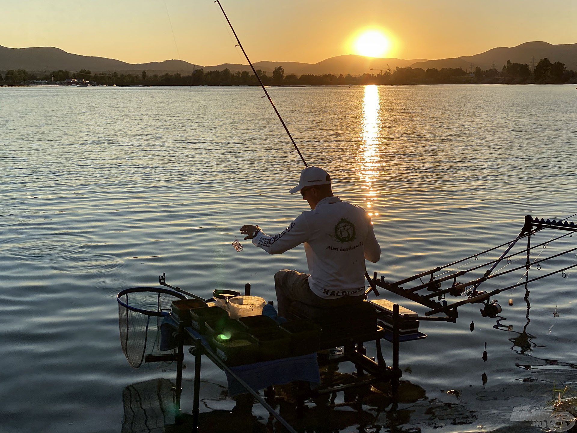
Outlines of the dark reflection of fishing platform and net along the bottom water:
<svg viewBox="0 0 577 433">
<path fill-rule="evenodd" d="M 321 369 L 324 385 L 346 385 L 355 376 L 340 373 L 338 367 Z M 275 396 L 269 403 L 299 432 L 328 433 L 358 432 L 420 432 L 417 425 L 439 428 L 447 424 L 471 424 L 477 420 L 474 412 L 460 402 L 441 402 L 426 397 L 425 390 L 402 380 L 398 401 L 394 402 L 389 383 L 374 383 L 340 393 L 320 394 L 299 404 L 298 384 L 275 386 Z M 341 394 L 342 393 L 342 394 Z M 340 395 L 338 395 L 340 394 Z M 183 413 L 175 421 L 174 383 L 168 379 L 153 379 L 135 383 L 122 393 L 124 419 L 121 433 L 192 431 L 192 415 Z M 261 415 L 260 405 L 249 394 L 234 397 L 231 410 L 222 407 L 222 396 L 203 399 L 200 431 L 203 432 L 271 432 L 285 431 L 271 416 Z M 256 413 L 253 413 L 253 406 Z"/>
</svg>

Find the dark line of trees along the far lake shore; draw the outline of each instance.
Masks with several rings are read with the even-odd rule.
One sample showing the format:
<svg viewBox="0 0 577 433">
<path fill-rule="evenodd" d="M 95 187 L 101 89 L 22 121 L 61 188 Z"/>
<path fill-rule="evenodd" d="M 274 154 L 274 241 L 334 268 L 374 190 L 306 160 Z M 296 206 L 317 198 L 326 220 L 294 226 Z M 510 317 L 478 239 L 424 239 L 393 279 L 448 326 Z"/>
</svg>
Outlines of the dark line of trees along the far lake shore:
<svg viewBox="0 0 577 433">
<path fill-rule="evenodd" d="M 539 60 L 531 70 L 527 64 L 510 60 L 499 71 L 495 68 L 482 70 L 477 66 L 466 72 L 462 68 L 396 68 L 381 70 L 378 74 L 365 73 L 360 76 L 347 74 L 284 74 L 282 66 L 277 66 L 272 75 L 258 69 L 257 74 L 265 85 L 366 85 L 366 84 L 485 84 L 485 83 L 575 83 L 577 74 L 568 70 L 561 62 L 550 62 L 548 58 Z M 254 74 L 247 71 L 195 69 L 189 75 L 181 73 L 140 74 L 96 73 L 81 69 L 78 72 L 57 70 L 49 73 L 32 73 L 24 69 L 8 70 L 0 74 L 2 84 L 23 84 L 31 80 L 47 80 L 62 83 L 68 79 L 90 81 L 102 85 L 258 85 Z"/>
</svg>

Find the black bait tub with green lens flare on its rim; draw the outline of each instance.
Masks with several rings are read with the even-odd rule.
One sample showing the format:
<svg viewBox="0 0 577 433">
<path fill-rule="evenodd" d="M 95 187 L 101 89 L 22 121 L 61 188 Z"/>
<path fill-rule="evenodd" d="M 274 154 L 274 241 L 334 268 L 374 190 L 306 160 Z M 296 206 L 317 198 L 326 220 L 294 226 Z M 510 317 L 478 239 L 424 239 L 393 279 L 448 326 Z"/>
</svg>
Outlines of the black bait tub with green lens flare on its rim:
<svg viewBox="0 0 577 433">
<path fill-rule="evenodd" d="M 216 356 L 230 367 L 253 364 L 258 361 L 258 344 L 248 333 L 233 333 L 230 338 L 224 338 L 222 334 L 215 335 L 210 343 Z"/>
</svg>

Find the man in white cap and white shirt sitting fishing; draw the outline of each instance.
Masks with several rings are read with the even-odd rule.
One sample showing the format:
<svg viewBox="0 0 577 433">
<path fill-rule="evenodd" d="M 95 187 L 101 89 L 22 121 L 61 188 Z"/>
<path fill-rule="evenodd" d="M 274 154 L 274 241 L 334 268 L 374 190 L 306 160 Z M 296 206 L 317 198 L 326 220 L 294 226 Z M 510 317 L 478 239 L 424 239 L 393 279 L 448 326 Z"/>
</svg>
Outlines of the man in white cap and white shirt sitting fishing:
<svg viewBox="0 0 577 433">
<path fill-rule="evenodd" d="M 282 270 L 275 274 L 278 312 L 287 317 L 294 301 L 313 307 L 342 307 L 365 297 L 365 259 L 381 256 L 369 215 L 362 207 L 342 201 L 332 192 L 331 177 L 320 167 L 301 171 L 297 186 L 310 211 L 302 212 L 281 233 L 268 236 L 258 225 L 243 225 L 245 239 L 269 254 L 305 245 L 309 274 Z"/>
</svg>

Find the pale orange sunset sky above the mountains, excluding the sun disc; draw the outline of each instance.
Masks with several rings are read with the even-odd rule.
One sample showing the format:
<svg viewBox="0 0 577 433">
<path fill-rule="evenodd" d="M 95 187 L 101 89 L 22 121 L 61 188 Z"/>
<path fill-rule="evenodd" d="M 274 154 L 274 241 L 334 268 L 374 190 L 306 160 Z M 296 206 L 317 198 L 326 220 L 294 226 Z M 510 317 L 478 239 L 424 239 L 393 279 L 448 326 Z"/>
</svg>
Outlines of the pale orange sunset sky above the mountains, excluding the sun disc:
<svg viewBox="0 0 577 433">
<path fill-rule="evenodd" d="M 383 57 L 405 59 L 472 55 L 531 40 L 577 43 L 577 2 L 572 0 L 222 0 L 222 4 L 255 62 L 316 63 L 356 54 L 350 39 L 366 27 L 384 29 L 393 39 Z M 131 63 L 170 58 L 204 66 L 246 63 L 212 0 L 1 0 L 0 9 L 0 45 L 7 47 L 55 46 Z"/>
</svg>

